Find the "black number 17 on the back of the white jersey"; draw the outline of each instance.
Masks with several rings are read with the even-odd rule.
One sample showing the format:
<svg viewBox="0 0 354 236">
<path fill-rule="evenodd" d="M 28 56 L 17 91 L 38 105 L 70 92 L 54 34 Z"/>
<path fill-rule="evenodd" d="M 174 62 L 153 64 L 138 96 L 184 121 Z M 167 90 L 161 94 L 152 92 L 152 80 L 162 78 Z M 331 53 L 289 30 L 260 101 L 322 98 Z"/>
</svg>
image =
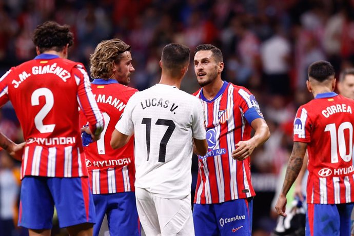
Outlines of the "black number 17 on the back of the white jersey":
<svg viewBox="0 0 354 236">
<path fill-rule="evenodd" d="M 142 124 L 146 125 L 146 149 L 147 149 L 147 160 L 149 161 L 150 155 L 150 134 L 151 134 L 151 118 L 143 118 Z M 174 128 L 176 125 L 172 120 L 165 120 L 165 119 L 158 119 L 155 125 L 165 125 L 168 126 L 162 140 L 160 142 L 160 151 L 159 151 L 159 162 L 165 162 L 166 159 L 166 147 L 167 143 L 170 140 L 170 137 L 173 133 Z"/>
</svg>

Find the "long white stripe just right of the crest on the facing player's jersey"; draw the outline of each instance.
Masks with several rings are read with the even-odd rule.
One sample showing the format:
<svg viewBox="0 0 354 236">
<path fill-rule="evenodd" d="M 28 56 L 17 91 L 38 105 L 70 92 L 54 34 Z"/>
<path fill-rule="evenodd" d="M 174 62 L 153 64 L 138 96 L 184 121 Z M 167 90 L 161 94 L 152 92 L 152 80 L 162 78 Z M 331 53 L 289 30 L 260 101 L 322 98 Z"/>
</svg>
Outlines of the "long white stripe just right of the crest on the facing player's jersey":
<svg viewBox="0 0 354 236">
<path fill-rule="evenodd" d="M 229 111 L 233 111 L 233 86 L 229 86 L 228 96 L 227 96 L 227 109 Z M 232 115 L 231 115 L 232 114 Z M 234 141 L 234 132 L 235 129 L 235 121 L 233 117 L 233 112 L 230 112 L 229 120 L 227 123 L 227 153 L 229 155 L 229 168 L 230 168 L 230 191 L 231 191 L 231 199 L 238 199 L 239 193 L 237 189 L 237 160 L 232 158 L 232 151 L 235 149 L 235 141 Z"/>
</svg>

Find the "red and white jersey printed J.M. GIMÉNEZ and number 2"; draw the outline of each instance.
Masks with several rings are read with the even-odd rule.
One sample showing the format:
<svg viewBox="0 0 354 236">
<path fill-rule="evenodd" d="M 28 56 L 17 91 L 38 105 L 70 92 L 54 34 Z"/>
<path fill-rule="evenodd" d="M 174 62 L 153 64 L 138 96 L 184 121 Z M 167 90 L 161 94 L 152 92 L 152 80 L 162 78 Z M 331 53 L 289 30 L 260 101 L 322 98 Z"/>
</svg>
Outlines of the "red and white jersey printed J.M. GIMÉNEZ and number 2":
<svg viewBox="0 0 354 236">
<path fill-rule="evenodd" d="M 82 64 L 41 54 L 12 67 L 0 78 L 0 106 L 8 101 L 27 141 L 21 178 L 87 176 L 79 105 L 93 133 L 102 132 L 104 120 Z"/>
</svg>

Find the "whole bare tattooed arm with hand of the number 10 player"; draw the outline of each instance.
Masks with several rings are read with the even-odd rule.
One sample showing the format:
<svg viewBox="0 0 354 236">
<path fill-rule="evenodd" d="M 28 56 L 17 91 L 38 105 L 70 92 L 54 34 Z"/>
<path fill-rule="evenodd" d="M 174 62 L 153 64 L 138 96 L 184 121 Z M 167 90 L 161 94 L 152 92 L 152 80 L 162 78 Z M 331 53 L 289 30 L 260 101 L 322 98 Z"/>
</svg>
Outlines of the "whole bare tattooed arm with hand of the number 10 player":
<svg viewBox="0 0 354 236">
<path fill-rule="evenodd" d="M 277 213 L 279 215 L 283 215 L 283 217 L 286 217 L 286 194 L 288 193 L 291 185 L 294 183 L 294 181 L 299 175 L 299 172 L 302 168 L 306 148 L 307 143 L 300 142 L 294 142 L 294 145 L 292 147 L 288 167 L 286 169 L 285 180 L 276 204 Z"/>
</svg>

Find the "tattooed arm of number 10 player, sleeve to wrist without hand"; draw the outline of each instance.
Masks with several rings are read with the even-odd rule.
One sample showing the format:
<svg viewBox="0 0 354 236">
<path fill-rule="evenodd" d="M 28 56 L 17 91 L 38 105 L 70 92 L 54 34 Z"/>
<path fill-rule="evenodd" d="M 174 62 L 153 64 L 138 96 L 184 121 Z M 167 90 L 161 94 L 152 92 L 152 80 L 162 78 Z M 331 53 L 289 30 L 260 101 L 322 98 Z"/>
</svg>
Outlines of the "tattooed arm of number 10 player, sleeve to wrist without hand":
<svg viewBox="0 0 354 236">
<path fill-rule="evenodd" d="M 301 170 L 306 147 L 306 143 L 294 142 L 282 188 L 282 193 L 285 195 L 289 191 L 291 185 L 294 183 Z"/>
</svg>

